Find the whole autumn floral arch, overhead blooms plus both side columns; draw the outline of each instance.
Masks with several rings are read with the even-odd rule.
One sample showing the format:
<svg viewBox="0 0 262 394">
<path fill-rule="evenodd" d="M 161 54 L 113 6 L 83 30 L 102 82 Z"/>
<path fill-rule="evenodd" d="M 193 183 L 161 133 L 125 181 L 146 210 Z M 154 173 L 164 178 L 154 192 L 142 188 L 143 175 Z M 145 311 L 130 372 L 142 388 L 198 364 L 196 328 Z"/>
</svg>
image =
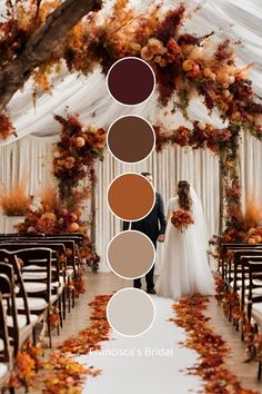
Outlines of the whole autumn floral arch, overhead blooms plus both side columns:
<svg viewBox="0 0 262 394">
<path fill-rule="evenodd" d="M 24 3 L 27 7 L 18 1 L 12 9 L 9 4 L 9 18 L 1 26 L 6 50 L 0 65 L 2 68 L 19 57 L 27 42 L 58 7 L 50 2 L 44 7 L 40 3 L 36 9 L 34 1 Z M 198 12 L 196 8 L 192 14 L 187 14 L 183 3 L 169 11 L 157 4 L 148 13 L 138 13 L 129 7 L 128 0 L 117 0 L 110 14 L 99 10 L 100 2 L 94 6 L 94 11 L 77 23 L 51 56 L 33 71 L 34 89 L 49 91 L 52 73 L 64 62 L 70 72 L 88 75 L 100 66 L 107 75 L 114 61 L 132 56 L 152 66 L 162 108 L 172 102 L 172 111 L 182 111 L 187 119 L 189 102 L 195 96 L 201 97 L 210 115 L 216 112 L 224 127 L 218 129 L 195 120 L 191 128 L 181 126 L 175 130 L 164 130 L 162 125 L 157 124 L 157 150 L 171 144 L 193 149 L 209 148 L 219 155 L 226 211 L 224 236 L 226 239 L 245 239 L 249 228 L 241 214 L 239 141 L 241 130 L 262 139 L 262 105 L 246 77 L 250 66 L 238 66 L 234 46 L 239 43 L 232 45 L 229 39 L 218 42 L 214 32 L 198 37 L 183 31 L 184 20 Z M 23 37 L 23 41 L 19 37 Z M 7 43 L 11 52 L 7 50 Z M 2 112 L 1 118 L 0 136 L 7 138 L 16 131 L 7 114 Z M 80 197 L 84 191 L 78 189 L 79 181 L 87 175 L 91 187 L 95 181 L 93 162 L 102 158 L 105 130 L 84 127 L 74 116 L 56 118 L 62 125 L 62 138 L 53 161 L 54 176 L 60 196 L 70 208 L 72 188 Z M 80 214 L 68 220 L 68 226 L 79 220 L 77 225 L 81 227 Z M 78 230 L 78 226 L 71 226 L 71 229 L 74 227 Z"/>
</svg>

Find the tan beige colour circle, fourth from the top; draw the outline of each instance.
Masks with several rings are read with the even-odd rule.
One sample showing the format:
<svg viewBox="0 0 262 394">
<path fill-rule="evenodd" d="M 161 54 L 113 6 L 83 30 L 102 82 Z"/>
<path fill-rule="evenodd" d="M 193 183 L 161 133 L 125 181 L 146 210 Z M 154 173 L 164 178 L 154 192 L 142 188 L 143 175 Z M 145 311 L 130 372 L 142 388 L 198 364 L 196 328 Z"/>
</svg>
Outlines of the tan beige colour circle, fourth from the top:
<svg viewBox="0 0 262 394">
<path fill-rule="evenodd" d="M 128 230 L 115 235 L 108 246 L 108 264 L 113 273 L 124 279 L 135 279 L 148 274 L 155 260 L 152 240 L 143 233 Z"/>
</svg>

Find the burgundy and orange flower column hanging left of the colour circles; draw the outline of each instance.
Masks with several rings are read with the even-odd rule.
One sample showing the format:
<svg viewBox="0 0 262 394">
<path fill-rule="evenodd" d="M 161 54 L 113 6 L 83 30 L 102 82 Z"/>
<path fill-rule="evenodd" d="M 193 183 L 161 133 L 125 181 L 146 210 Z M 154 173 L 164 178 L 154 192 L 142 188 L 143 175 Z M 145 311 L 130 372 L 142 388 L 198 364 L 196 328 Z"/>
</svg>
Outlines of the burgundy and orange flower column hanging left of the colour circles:
<svg viewBox="0 0 262 394">
<path fill-rule="evenodd" d="M 84 127 L 78 115 L 69 115 L 67 118 L 54 116 L 54 119 L 62 129 L 61 139 L 54 147 L 53 175 L 66 213 L 71 213 L 70 217 L 74 216 L 68 230 L 87 234 L 87 228 L 81 221 L 81 206 L 77 203 L 90 196 L 90 188 L 84 188 L 80 183 L 88 177 L 90 187 L 94 187 L 97 181 L 94 162 L 98 158 L 103 160 L 105 130 L 92 126 Z M 87 235 L 80 248 L 80 256 L 88 260 L 93 272 L 98 270 L 100 257 Z M 77 287 L 82 290 L 81 283 L 78 283 Z"/>
</svg>

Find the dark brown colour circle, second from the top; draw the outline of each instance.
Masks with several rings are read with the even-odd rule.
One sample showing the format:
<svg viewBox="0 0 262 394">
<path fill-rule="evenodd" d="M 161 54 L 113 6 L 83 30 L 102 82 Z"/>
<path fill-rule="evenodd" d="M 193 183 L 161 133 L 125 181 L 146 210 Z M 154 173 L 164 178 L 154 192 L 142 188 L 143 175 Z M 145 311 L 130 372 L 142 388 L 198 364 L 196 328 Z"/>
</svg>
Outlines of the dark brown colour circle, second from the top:
<svg viewBox="0 0 262 394">
<path fill-rule="evenodd" d="M 108 148 L 124 162 L 144 160 L 154 147 L 152 126 L 143 118 L 128 115 L 117 119 L 109 128 Z"/>
</svg>

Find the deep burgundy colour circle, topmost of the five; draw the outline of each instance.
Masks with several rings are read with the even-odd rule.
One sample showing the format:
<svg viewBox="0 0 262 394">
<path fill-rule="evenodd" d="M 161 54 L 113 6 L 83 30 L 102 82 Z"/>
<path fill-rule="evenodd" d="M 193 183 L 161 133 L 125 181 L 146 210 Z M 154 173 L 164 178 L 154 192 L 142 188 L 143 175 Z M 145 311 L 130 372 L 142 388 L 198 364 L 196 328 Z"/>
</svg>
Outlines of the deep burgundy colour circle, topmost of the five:
<svg viewBox="0 0 262 394">
<path fill-rule="evenodd" d="M 142 59 L 123 58 L 108 72 L 107 85 L 111 96 L 125 106 L 137 106 L 153 92 L 155 78 L 152 68 Z"/>
</svg>

